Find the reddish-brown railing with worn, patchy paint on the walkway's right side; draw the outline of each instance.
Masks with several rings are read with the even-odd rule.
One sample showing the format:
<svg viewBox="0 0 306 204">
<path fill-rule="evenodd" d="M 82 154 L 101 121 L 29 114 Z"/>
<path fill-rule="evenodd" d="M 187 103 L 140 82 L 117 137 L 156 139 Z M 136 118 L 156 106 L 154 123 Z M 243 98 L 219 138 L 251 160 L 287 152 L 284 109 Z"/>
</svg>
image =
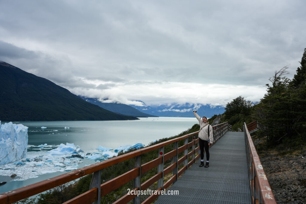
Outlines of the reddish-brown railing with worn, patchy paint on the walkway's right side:
<svg viewBox="0 0 306 204">
<path fill-rule="evenodd" d="M 259 160 L 247 125 L 244 123 L 243 132 L 245 137 L 245 148 L 249 167 L 250 196 L 252 203 L 276 204 L 273 192 L 263 166 Z"/>
</svg>

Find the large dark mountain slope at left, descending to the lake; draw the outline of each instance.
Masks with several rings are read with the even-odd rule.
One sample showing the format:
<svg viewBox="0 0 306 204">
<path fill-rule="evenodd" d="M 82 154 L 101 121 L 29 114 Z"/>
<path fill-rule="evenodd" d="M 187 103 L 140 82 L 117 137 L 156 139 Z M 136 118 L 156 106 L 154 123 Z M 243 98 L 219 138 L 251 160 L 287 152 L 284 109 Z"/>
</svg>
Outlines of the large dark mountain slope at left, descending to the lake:
<svg viewBox="0 0 306 204">
<path fill-rule="evenodd" d="M 0 61 L 1 121 L 137 120 L 84 101 L 55 83 Z"/>
</svg>

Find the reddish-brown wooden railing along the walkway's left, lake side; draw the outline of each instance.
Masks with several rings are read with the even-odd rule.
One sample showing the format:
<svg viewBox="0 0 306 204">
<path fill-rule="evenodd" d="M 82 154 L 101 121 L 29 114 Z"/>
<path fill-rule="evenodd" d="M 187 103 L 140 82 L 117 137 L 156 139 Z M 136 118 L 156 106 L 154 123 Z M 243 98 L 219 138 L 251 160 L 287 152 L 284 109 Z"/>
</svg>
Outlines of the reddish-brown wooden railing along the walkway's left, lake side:
<svg viewBox="0 0 306 204">
<path fill-rule="evenodd" d="M 227 132 L 230 131 L 230 125 L 226 123 L 218 124 L 212 127 L 214 130 L 214 143 L 213 145 Z M 18 188 L 13 191 L 8 191 L 0 194 L 0 203 L 9 204 L 13 202 L 17 202 L 24 198 L 28 198 L 30 196 L 39 194 L 41 192 L 47 191 L 54 187 L 60 186 L 62 184 L 66 184 L 70 181 L 79 179 L 82 176 L 86 176 L 88 174 L 93 173 L 90 190 L 85 193 L 78 195 L 77 197 L 65 202 L 68 203 L 100 203 L 101 197 L 107 195 L 108 193 L 116 190 L 118 187 L 128 183 L 133 180 L 133 189 L 134 191 L 138 190 L 146 190 L 152 184 L 157 181 L 157 190 L 162 191 L 163 189 L 168 188 L 171 184 L 173 184 L 178 177 L 188 170 L 192 164 L 194 164 L 198 158 L 200 157 L 200 147 L 198 145 L 199 138 L 196 138 L 196 135 L 199 131 L 190 133 L 188 135 L 184 135 L 175 139 L 171 139 L 150 147 L 145 147 L 139 150 L 135 150 L 133 152 L 123 154 L 114 158 L 107 159 L 105 161 L 95 163 L 90 166 L 83 167 L 81 169 L 77 169 L 60 176 L 56 176 L 47 180 L 40 181 L 35 184 L 31 184 L 25 187 Z M 191 138 L 191 142 L 188 143 L 188 138 Z M 178 147 L 178 142 L 184 140 L 184 145 Z M 164 154 L 164 147 L 169 144 L 174 144 L 174 148 L 172 151 Z M 197 147 L 196 147 L 197 145 Z M 188 148 L 191 148 L 191 151 L 188 152 Z M 152 150 L 159 149 L 159 154 L 156 159 L 149 161 L 145 164 L 141 165 L 141 155 Z M 178 158 L 178 155 L 184 152 L 181 158 Z M 198 153 L 196 155 L 196 153 Z M 112 179 L 103 184 L 101 184 L 101 170 L 105 169 L 114 164 L 118 164 L 122 161 L 126 161 L 128 159 L 135 158 L 135 167 L 134 169 Z M 189 158 L 189 162 L 188 162 Z M 173 162 L 170 166 L 164 169 L 165 161 L 173 159 Z M 179 165 L 183 163 L 182 168 L 178 168 Z M 148 172 L 149 170 L 157 167 L 157 173 L 152 176 L 150 179 L 146 180 L 141 184 L 140 176 L 141 174 Z M 172 171 L 172 176 L 164 183 L 164 176 Z M 153 202 L 159 194 L 150 195 L 147 199 L 142 203 L 151 203 Z M 133 199 L 133 203 L 140 203 L 140 195 L 124 195 L 119 198 L 114 203 L 127 203 Z"/>
</svg>

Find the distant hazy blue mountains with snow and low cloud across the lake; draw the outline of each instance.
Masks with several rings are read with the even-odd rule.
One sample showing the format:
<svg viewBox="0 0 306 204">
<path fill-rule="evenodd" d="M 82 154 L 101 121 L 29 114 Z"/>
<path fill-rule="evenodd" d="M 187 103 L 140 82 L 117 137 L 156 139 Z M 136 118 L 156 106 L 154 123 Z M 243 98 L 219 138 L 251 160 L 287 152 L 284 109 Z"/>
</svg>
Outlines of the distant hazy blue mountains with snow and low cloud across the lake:
<svg viewBox="0 0 306 204">
<path fill-rule="evenodd" d="M 196 110 L 201 117 L 212 117 L 214 115 L 222 114 L 225 111 L 223 106 L 211 106 L 203 104 L 172 103 L 170 105 L 147 106 L 144 102 L 142 103 L 144 104 L 144 106 L 131 106 L 140 110 L 141 112 L 147 114 L 154 114 L 159 117 L 194 117 L 192 113 L 192 111 L 194 110 Z"/>
</svg>

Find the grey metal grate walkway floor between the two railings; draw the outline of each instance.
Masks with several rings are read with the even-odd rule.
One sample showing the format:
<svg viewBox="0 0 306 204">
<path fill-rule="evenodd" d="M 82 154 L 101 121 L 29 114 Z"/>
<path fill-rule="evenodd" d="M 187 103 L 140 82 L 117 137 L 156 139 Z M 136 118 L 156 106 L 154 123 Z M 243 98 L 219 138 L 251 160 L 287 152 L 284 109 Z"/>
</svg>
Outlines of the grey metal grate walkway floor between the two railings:
<svg viewBox="0 0 306 204">
<path fill-rule="evenodd" d="M 167 190 L 179 195 L 160 195 L 155 203 L 250 203 L 244 133 L 227 132 L 209 153 L 208 168 L 199 159 Z"/>
</svg>

